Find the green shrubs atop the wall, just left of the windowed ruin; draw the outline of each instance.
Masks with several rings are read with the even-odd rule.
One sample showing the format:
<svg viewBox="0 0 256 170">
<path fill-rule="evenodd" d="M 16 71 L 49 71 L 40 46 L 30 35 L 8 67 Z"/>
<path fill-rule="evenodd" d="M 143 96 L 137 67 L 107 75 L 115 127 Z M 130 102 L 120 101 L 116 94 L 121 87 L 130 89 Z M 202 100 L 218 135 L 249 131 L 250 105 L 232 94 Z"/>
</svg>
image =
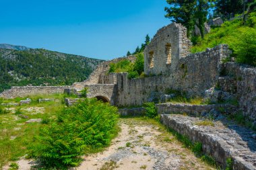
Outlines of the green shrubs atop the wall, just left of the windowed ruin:
<svg viewBox="0 0 256 170">
<path fill-rule="evenodd" d="M 136 54 L 135 57 L 136 60 L 134 63 L 127 59 L 123 59 L 116 63 L 110 63 L 110 69 L 108 73 L 127 72 L 129 73 L 129 79 L 137 78 L 140 75 L 143 75 L 144 55 L 141 52 L 139 54 Z"/>
</svg>

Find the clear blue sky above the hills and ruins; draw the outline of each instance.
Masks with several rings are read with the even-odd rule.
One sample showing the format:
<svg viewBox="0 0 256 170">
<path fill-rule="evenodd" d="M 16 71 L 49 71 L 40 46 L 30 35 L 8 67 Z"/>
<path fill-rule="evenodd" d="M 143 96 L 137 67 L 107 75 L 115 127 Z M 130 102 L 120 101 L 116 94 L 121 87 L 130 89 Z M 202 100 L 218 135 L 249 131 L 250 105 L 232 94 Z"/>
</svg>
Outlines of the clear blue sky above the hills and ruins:
<svg viewBox="0 0 256 170">
<path fill-rule="evenodd" d="M 1 0 L 0 43 L 111 59 L 170 24 L 165 0 Z"/>
</svg>

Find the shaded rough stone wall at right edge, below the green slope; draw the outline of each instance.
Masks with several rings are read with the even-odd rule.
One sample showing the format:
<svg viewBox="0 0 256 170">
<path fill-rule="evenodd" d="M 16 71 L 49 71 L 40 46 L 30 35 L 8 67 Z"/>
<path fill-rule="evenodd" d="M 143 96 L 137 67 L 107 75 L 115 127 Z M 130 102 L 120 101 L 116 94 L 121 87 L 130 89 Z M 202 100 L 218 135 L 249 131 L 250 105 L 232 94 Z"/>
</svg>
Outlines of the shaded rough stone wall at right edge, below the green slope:
<svg viewBox="0 0 256 170">
<path fill-rule="evenodd" d="M 219 82 L 220 89 L 234 95 L 243 114 L 256 124 L 256 68 L 227 62 Z"/>
</svg>

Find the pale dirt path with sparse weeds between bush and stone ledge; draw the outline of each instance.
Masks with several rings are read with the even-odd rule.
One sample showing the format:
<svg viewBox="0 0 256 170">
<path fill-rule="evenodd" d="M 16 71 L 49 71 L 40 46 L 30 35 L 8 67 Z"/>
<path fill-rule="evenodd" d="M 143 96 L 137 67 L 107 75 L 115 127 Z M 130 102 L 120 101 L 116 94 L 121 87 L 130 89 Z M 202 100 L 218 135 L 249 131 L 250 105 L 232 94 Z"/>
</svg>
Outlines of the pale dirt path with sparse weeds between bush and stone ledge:
<svg viewBox="0 0 256 170">
<path fill-rule="evenodd" d="M 79 170 L 212 169 L 158 124 L 121 119 L 121 132 L 102 153 L 85 157 Z"/>
</svg>

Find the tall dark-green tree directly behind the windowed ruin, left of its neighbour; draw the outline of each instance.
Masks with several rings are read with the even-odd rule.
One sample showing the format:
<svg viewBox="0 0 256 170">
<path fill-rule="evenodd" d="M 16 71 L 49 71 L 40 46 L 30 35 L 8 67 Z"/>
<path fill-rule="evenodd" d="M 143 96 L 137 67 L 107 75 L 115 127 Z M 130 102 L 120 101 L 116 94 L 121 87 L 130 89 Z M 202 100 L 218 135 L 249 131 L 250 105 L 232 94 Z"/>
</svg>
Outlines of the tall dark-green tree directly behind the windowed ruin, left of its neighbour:
<svg viewBox="0 0 256 170">
<path fill-rule="evenodd" d="M 165 7 L 165 17 L 187 28 L 187 36 L 191 36 L 195 27 L 196 0 L 166 0 L 170 7 Z"/>
</svg>

